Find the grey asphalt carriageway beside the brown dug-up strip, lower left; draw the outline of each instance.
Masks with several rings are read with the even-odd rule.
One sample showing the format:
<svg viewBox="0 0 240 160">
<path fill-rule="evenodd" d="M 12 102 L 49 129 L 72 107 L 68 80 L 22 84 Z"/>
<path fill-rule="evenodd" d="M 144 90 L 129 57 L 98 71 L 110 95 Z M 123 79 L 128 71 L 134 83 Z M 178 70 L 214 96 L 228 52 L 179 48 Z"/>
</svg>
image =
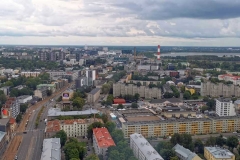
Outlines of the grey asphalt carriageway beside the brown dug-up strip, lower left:
<svg viewBox="0 0 240 160">
<path fill-rule="evenodd" d="M 41 108 L 38 108 L 31 113 L 29 118 L 26 134 L 23 135 L 22 143 L 18 150 L 18 160 L 40 160 L 42 154 L 42 145 L 44 139 L 45 122 L 44 119 L 47 118 L 48 109 L 56 104 L 55 100 L 53 102 L 47 102 L 44 104 L 45 109 L 43 110 L 40 123 L 38 128 L 35 128 L 35 121 L 37 115 Z"/>
</svg>

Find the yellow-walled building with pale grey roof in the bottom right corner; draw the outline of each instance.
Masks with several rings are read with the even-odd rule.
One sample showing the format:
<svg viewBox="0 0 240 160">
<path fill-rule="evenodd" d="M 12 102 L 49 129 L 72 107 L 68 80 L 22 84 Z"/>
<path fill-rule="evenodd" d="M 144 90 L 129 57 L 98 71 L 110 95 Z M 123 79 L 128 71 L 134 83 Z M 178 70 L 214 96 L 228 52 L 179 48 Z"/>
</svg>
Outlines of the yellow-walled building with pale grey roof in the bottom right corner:
<svg viewBox="0 0 240 160">
<path fill-rule="evenodd" d="M 227 149 L 220 147 L 204 147 L 206 160 L 235 160 L 235 155 Z"/>
</svg>

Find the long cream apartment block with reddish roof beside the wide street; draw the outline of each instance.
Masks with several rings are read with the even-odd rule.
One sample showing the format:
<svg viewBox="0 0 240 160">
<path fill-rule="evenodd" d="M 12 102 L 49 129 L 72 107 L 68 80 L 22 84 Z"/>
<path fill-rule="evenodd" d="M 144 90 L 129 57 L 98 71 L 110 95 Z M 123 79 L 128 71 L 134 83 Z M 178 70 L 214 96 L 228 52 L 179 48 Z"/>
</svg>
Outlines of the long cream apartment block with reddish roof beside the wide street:
<svg viewBox="0 0 240 160">
<path fill-rule="evenodd" d="M 64 130 L 68 137 L 87 136 L 87 128 L 93 122 L 103 123 L 101 119 L 97 118 L 48 121 L 45 136 L 50 138 L 60 130 Z"/>
</svg>

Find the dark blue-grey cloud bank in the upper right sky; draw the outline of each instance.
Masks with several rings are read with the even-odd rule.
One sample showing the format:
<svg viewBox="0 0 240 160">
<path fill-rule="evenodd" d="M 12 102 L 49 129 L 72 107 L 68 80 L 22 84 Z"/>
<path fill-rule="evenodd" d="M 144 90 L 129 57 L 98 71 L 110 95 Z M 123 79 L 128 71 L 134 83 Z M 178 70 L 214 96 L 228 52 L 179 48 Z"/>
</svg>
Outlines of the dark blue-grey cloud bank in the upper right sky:
<svg viewBox="0 0 240 160">
<path fill-rule="evenodd" d="M 240 17 L 239 0 L 146 0 L 115 6 L 137 13 L 141 19 L 229 19 Z"/>
</svg>

